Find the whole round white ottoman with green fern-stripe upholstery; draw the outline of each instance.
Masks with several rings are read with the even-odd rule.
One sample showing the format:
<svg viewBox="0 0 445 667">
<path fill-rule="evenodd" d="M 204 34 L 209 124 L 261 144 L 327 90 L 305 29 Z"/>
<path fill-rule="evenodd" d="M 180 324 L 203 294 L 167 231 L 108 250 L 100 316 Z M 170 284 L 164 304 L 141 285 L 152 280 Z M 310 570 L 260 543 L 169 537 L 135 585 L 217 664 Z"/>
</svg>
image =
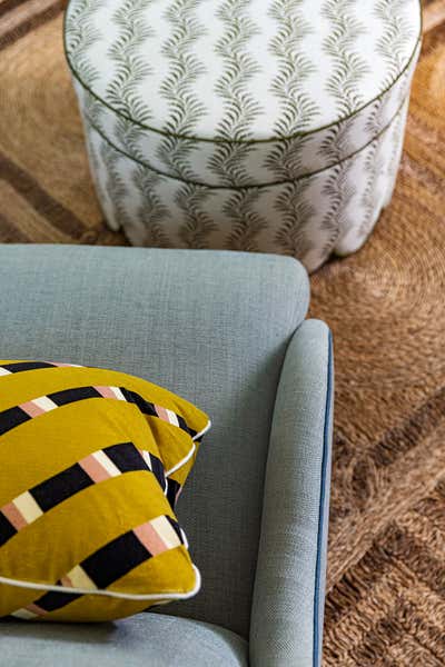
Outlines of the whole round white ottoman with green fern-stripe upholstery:
<svg viewBox="0 0 445 667">
<path fill-rule="evenodd" d="M 394 188 L 418 0 L 71 0 L 109 226 L 135 245 L 357 250 Z"/>
</svg>

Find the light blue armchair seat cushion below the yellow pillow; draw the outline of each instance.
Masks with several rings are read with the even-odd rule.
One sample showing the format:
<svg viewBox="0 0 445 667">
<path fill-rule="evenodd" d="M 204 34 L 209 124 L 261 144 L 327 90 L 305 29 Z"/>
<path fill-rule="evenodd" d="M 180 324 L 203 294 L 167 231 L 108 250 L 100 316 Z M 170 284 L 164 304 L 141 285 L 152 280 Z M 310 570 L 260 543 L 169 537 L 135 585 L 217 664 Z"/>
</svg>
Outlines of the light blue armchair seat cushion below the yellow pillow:
<svg viewBox="0 0 445 667">
<path fill-rule="evenodd" d="M 161 614 L 100 625 L 1 623 L 8 667 L 247 667 L 248 644 L 218 626 Z"/>
</svg>

